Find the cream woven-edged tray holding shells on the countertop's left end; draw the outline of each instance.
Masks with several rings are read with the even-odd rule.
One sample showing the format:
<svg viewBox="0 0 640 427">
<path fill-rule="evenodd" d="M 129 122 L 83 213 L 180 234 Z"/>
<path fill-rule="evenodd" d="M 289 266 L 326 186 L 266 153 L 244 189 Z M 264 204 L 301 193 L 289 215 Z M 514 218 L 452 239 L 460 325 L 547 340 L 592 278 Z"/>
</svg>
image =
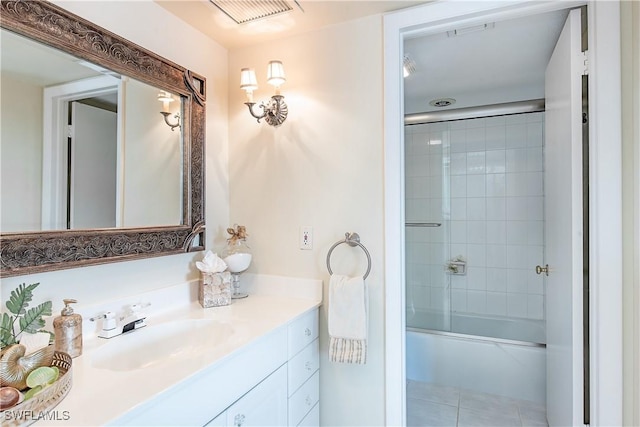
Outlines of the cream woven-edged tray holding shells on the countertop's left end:
<svg viewBox="0 0 640 427">
<path fill-rule="evenodd" d="M 68 420 L 70 414 L 52 411 L 71 390 L 71 356 L 61 351 L 53 353 L 51 366 L 60 371 L 58 379 L 50 386 L 11 408 L 0 412 L 4 426 L 28 426 L 39 420 Z"/>
</svg>

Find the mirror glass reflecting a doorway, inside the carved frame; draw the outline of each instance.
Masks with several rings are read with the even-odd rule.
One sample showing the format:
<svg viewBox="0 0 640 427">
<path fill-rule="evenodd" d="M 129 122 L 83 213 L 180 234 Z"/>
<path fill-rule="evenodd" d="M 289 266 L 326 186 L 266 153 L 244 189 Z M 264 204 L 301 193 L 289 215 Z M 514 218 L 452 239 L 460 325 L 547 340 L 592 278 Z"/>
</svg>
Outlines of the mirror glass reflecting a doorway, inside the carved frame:
<svg viewBox="0 0 640 427">
<path fill-rule="evenodd" d="M 4 29 L 0 43 L 0 230 L 181 224 L 180 96 Z"/>
</svg>

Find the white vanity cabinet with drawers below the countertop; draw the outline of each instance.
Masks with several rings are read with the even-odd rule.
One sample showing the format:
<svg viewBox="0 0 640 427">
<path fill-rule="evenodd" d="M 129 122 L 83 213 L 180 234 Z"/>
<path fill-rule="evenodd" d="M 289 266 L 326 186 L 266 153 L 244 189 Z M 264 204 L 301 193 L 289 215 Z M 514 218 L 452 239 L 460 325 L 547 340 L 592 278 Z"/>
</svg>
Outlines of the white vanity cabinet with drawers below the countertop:
<svg viewBox="0 0 640 427">
<path fill-rule="evenodd" d="M 318 368 L 314 308 L 109 424 L 317 426 Z"/>
</svg>

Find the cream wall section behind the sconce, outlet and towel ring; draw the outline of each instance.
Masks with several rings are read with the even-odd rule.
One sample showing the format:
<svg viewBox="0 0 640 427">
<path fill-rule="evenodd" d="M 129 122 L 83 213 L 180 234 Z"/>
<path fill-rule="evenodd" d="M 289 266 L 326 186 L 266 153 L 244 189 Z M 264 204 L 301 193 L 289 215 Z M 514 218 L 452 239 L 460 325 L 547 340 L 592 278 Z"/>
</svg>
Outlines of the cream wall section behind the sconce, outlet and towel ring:
<svg viewBox="0 0 640 427">
<path fill-rule="evenodd" d="M 328 361 L 322 309 L 322 425 L 384 424 L 381 24 L 380 16 L 350 21 L 229 57 L 230 219 L 247 227 L 249 271 L 323 279 L 326 301 L 331 245 L 355 231 L 371 253 L 366 365 Z M 279 128 L 256 123 L 239 89 L 240 68 L 253 67 L 255 99 L 270 96 L 271 59 L 282 60 L 287 74 L 289 117 Z M 298 248 L 302 225 L 313 226 L 313 250 Z M 366 258 L 342 245 L 332 269 L 363 274 Z"/>
</svg>

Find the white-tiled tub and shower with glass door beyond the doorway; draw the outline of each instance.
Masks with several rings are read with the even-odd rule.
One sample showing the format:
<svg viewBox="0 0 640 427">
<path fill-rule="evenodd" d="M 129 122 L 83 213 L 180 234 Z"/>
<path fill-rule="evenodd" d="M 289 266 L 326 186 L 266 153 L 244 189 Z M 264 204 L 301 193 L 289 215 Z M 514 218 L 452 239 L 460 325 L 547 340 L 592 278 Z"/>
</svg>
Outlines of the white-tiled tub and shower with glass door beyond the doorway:
<svg viewBox="0 0 640 427">
<path fill-rule="evenodd" d="M 405 117 L 407 379 L 545 402 L 542 100 Z"/>
</svg>

